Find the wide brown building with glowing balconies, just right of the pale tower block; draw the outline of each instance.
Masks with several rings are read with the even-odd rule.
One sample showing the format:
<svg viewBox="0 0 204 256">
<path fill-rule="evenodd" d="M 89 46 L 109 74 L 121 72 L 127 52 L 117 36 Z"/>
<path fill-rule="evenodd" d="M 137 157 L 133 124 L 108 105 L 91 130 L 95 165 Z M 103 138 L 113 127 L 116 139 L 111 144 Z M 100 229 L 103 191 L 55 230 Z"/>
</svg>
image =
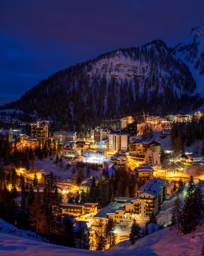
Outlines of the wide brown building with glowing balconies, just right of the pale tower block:
<svg viewBox="0 0 204 256">
<path fill-rule="evenodd" d="M 144 157 L 148 150 L 160 152 L 161 143 L 156 140 L 131 139 L 129 141 L 129 156 Z"/>
</svg>

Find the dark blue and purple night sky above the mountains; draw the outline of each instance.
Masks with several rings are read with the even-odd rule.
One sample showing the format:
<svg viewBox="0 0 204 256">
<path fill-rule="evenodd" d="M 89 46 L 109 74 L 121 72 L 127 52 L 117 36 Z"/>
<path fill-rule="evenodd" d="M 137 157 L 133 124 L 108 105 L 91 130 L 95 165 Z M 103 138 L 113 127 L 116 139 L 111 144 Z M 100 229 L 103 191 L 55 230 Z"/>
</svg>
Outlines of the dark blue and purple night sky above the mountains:
<svg viewBox="0 0 204 256">
<path fill-rule="evenodd" d="M 185 40 L 204 0 L 0 2 L 0 106 L 50 74 L 120 47 Z"/>
</svg>

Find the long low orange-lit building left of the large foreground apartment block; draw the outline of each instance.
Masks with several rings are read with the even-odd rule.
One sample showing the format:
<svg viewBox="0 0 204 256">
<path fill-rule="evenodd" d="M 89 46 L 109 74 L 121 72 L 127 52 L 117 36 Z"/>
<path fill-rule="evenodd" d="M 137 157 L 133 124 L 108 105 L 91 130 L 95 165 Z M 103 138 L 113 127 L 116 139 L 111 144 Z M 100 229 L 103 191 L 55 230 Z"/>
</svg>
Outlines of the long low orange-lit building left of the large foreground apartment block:
<svg viewBox="0 0 204 256">
<path fill-rule="evenodd" d="M 63 215 L 68 217 L 78 217 L 85 214 L 98 211 L 98 203 L 85 203 L 85 204 L 61 204 Z"/>
</svg>

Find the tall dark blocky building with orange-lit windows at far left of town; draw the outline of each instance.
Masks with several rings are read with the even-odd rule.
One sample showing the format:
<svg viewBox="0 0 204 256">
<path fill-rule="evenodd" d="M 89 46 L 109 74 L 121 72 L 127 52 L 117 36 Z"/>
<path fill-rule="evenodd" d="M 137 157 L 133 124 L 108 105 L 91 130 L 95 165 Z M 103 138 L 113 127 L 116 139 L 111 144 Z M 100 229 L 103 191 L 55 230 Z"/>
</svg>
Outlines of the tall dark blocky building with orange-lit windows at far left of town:
<svg viewBox="0 0 204 256">
<path fill-rule="evenodd" d="M 36 122 L 30 123 L 31 125 L 31 138 L 37 139 L 38 137 L 48 137 L 49 121 L 37 119 Z"/>
</svg>

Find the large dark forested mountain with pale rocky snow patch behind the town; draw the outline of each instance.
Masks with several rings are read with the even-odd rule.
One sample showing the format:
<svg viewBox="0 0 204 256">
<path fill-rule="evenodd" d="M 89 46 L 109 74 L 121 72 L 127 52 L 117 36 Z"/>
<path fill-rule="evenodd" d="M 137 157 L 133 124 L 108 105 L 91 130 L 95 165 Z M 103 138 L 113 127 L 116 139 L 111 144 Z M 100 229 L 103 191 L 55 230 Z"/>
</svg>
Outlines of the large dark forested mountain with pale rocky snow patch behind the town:
<svg viewBox="0 0 204 256">
<path fill-rule="evenodd" d="M 56 72 L 7 105 L 61 124 L 191 111 L 203 104 L 194 94 L 189 67 L 161 40 L 118 49 Z"/>
</svg>

